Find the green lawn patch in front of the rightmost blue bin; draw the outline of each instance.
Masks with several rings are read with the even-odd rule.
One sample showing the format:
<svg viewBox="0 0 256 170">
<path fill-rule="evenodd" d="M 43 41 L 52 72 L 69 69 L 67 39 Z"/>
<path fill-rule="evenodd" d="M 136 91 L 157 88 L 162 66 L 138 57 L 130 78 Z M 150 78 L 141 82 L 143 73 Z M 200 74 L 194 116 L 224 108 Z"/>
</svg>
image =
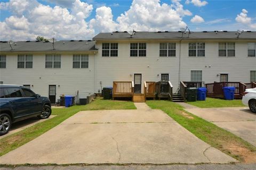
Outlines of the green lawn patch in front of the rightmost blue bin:
<svg viewBox="0 0 256 170">
<path fill-rule="evenodd" d="M 189 101 L 190 105 L 194 105 L 201 108 L 209 107 L 242 107 L 242 100 L 224 100 L 217 98 L 207 97 L 205 101 Z"/>
</svg>

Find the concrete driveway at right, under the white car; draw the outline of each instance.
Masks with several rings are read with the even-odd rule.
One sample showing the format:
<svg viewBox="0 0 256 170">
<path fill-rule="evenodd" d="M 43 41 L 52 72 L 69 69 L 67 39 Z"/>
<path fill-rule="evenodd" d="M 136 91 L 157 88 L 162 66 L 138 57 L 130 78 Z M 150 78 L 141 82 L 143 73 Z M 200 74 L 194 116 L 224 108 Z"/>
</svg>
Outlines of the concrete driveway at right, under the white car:
<svg viewBox="0 0 256 170">
<path fill-rule="evenodd" d="M 248 107 L 187 108 L 185 110 L 256 146 L 256 114 L 250 112 Z"/>
</svg>

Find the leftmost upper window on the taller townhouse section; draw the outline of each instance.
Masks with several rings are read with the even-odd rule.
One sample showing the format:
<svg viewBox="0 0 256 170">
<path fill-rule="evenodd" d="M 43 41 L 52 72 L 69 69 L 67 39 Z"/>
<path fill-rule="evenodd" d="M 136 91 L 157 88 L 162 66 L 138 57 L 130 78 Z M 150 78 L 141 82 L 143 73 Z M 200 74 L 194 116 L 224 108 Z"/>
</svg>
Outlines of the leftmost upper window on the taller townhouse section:
<svg viewBox="0 0 256 170">
<path fill-rule="evenodd" d="M 102 57 L 117 57 L 118 43 L 102 43 Z"/>
</svg>

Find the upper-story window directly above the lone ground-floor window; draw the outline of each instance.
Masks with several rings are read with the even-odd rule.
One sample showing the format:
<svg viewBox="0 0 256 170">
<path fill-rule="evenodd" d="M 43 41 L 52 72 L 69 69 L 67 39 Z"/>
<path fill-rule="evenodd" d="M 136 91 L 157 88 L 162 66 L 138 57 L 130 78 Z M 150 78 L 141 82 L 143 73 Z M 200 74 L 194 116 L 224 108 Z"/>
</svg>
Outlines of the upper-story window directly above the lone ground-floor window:
<svg viewBox="0 0 256 170">
<path fill-rule="evenodd" d="M 204 57 L 205 56 L 205 43 L 188 43 L 188 56 L 189 57 Z"/>
</svg>

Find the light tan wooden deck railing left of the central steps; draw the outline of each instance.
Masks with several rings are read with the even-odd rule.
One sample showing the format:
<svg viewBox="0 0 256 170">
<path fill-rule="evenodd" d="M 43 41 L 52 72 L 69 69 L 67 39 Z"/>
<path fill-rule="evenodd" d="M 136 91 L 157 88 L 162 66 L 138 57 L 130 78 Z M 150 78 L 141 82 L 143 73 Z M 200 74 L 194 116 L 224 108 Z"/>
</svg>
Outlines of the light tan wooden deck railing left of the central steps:
<svg viewBox="0 0 256 170">
<path fill-rule="evenodd" d="M 133 97 L 134 83 L 132 81 L 113 82 L 113 100 L 115 97 Z"/>
</svg>

